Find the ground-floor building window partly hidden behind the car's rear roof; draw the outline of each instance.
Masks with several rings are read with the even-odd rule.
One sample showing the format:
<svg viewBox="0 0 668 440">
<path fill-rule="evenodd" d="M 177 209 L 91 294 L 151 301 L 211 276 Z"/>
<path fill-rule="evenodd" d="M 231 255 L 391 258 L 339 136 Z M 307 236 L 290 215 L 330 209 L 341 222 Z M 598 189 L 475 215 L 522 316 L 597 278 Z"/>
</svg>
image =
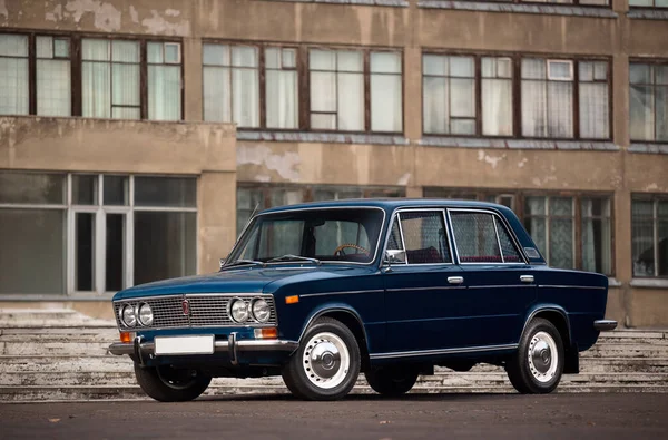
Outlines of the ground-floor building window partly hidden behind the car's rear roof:
<svg viewBox="0 0 668 440">
<path fill-rule="evenodd" d="M 606 275 L 613 273 L 612 208 L 608 196 L 430 187 L 424 188 L 424 196 L 505 205 L 523 219 L 524 227 L 551 266 Z"/>
</svg>

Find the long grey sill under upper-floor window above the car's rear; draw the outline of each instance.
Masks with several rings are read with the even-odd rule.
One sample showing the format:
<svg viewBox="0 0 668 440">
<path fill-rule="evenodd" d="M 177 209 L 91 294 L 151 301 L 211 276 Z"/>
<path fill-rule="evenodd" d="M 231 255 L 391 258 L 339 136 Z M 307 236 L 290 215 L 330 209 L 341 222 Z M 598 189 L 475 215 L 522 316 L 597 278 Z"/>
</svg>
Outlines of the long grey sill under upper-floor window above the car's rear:
<svg viewBox="0 0 668 440">
<path fill-rule="evenodd" d="M 480 137 L 424 137 L 419 144 L 429 147 L 619 151 L 617 145 L 605 140 L 523 140 Z"/>
</svg>

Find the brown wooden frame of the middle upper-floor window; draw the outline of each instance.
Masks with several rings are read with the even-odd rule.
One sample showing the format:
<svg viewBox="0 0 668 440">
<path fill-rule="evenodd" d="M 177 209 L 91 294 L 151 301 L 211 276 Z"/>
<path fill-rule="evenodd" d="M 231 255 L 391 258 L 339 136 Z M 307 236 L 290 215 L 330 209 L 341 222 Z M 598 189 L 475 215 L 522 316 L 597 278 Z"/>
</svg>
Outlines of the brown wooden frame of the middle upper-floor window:
<svg viewBox="0 0 668 440">
<path fill-rule="evenodd" d="M 259 94 L 259 126 L 258 127 L 239 127 L 239 130 L 249 131 L 265 131 L 265 133 L 323 133 L 323 134 L 345 134 L 345 135 L 394 135 L 402 136 L 405 131 L 405 57 L 403 47 L 375 47 L 375 46 L 345 46 L 345 45 L 313 45 L 313 43 L 294 43 L 294 42 L 257 42 L 249 40 L 238 39 L 218 39 L 218 38 L 204 38 L 203 45 L 224 45 L 224 46 L 247 46 L 257 49 L 257 69 L 258 69 L 258 94 Z M 297 127 L 295 128 L 268 128 L 267 127 L 267 99 L 266 99 L 266 56 L 265 49 L 277 48 L 277 49 L 295 49 L 295 68 L 289 69 L 297 72 Z M 311 69 L 308 62 L 310 50 L 350 50 L 362 53 L 363 65 L 363 82 L 364 82 L 364 129 L 363 130 L 326 130 L 326 129 L 312 129 L 311 128 Z M 401 62 L 401 121 L 402 127 L 400 131 L 372 131 L 371 130 L 371 52 L 391 52 L 400 56 Z M 204 67 L 203 62 L 203 67 Z M 232 68 L 232 66 L 230 66 Z M 204 74 L 203 74 L 204 75 Z M 391 75 L 391 74 L 376 74 L 376 75 Z M 396 75 L 396 74 L 392 74 Z M 202 85 L 202 111 L 204 115 L 204 81 Z M 234 99 L 234 96 L 233 96 Z M 204 119 L 204 118 L 203 118 Z"/>
</svg>

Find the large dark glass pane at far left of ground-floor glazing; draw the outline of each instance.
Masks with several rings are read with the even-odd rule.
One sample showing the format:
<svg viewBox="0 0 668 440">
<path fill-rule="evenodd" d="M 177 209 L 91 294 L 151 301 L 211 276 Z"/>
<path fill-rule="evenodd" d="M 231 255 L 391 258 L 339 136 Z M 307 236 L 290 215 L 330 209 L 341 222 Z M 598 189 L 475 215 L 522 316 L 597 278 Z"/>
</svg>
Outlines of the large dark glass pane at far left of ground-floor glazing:
<svg viewBox="0 0 668 440">
<path fill-rule="evenodd" d="M 65 292 L 65 218 L 61 209 L 0 209 L 0 293 Z"/>
</svg>

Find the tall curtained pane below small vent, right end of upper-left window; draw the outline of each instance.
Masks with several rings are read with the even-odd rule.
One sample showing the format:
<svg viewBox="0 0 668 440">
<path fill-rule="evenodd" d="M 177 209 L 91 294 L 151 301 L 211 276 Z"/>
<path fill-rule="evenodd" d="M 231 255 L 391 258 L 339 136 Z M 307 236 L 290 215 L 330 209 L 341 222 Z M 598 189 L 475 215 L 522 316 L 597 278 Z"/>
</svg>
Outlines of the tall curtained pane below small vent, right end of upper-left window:
<svg viewBox="0 0 668 440">
<path fill-rule="evenodd" d="M 179 66 L 148 66 L 148 118 L 181 119 Z"/>
</svg>

